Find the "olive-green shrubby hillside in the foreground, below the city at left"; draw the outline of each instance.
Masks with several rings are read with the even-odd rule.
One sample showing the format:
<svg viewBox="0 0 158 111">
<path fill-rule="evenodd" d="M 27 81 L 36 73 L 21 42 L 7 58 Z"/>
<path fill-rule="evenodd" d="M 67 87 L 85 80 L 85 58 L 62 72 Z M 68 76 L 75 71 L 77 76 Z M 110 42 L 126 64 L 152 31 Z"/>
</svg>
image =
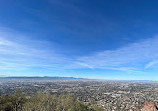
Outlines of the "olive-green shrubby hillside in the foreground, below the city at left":
<svg viewBox="0 0 158 111">
<path fill-rule="evenodd" d="M 102 111 L 95 105 L 85 105 L 69 94 L 60 96 L 22 93 L 0 97 L 0 111 Z"/>
</svg>

